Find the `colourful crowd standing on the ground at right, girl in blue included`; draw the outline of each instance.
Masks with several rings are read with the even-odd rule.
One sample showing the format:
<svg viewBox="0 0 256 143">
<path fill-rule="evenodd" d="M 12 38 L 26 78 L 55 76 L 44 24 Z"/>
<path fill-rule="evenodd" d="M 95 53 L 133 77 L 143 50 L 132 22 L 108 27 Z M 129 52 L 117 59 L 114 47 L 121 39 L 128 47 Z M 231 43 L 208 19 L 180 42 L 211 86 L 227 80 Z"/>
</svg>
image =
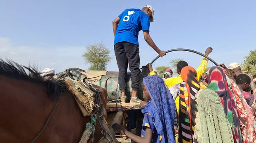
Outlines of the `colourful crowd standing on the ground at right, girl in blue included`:
<svg viewBox="0 0 256 143">
<path fill-rule="evenodd" d="M 141 136 L 113 127 L 137 143 L 256 143 L 254 80 L 237 63 L 205 71 L 207 62 L 195 69 L 180 61 L 178 77 L 167 69 L 162 78 L 149 64 Z"/>
</svg>

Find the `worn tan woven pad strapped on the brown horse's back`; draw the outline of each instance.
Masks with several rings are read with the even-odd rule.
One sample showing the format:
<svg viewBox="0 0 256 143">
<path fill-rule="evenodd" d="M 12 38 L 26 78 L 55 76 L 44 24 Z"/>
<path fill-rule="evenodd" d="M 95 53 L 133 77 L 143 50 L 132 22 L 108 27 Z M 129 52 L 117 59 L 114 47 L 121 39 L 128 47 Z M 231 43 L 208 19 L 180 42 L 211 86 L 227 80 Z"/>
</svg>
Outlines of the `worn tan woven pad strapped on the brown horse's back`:
<svg viewBox="0 0 256 143">
<path fill-rule="evenodd" d="M 67 89 L 73 93 L 75 100 L 78 102 L 78 106 L 83 114 L 83 116 L 89 116 L 92 114 L 93 107 L 99 107 L 99 105 L 94 104 L 95 93 L 88 89 L 86 86 L 82 85 L 79 81 L 64 79 L 67 83 Z"/>
</svg>

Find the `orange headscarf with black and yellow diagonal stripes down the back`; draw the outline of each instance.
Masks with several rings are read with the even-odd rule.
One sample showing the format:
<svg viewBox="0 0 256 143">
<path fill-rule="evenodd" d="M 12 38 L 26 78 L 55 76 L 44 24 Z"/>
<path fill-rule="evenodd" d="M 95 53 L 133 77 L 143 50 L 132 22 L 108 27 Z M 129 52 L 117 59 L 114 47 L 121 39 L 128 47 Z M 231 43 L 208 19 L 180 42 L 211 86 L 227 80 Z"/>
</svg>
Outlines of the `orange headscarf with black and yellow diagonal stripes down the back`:
<svg viewBox="0 0 256 143">
<path fill-rule="evenodd" d="M 195 94 L 200 90 L 200 84 L 196 78 L 197 72 L 193 67 L 186 66 L 181 70 L 180 98 L 178 110 L 178 142 L 192 142 L 195 132 L 195 117 L 197 103 Z"/>
</svg>

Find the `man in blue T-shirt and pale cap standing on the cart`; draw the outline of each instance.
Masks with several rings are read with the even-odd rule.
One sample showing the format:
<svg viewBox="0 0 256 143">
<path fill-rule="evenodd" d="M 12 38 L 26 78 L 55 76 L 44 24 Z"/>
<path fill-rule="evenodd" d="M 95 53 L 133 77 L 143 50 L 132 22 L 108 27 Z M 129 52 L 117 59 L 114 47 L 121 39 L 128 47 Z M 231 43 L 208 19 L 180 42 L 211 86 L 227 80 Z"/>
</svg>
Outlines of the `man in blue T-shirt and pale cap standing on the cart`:
<svg viewBox="0 0 256 143">
<path fill-rule="evenodd" d="M 150 47 L 161 57 L 165 55 L 165 52 L 155 45 L 149 35 L 149 25 L 150 22 L 154 21 L 154 12 L 151 5 L 146 5 L 143 9 L 126 9 L 113 21 L 114 49 L 119 68 L 118 82 L 122 93 L 122 102 L 126 101 L 125 90 L 128 63 L 132 80 L 132 98 L 130 102 L 141 102 L 137 98 L 140 73 L 139 31 L 143 30 L 144 39 Z"/>
</svg>

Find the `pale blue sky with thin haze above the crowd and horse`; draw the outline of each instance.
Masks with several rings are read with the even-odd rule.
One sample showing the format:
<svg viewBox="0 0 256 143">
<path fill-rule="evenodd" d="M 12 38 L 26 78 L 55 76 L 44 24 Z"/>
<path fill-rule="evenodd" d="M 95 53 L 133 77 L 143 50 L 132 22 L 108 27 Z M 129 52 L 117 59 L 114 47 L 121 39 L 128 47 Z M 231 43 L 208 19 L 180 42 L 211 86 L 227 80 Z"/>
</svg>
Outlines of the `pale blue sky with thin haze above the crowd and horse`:
<svg viewBox="0 0 256 143">
<path fill-rule="evenodd" d="M 82 53 L 88 44 L 103 41 L 111 50 L 110 71 L 117 71 L 113 52 L 112 21 L 124 9 L 152 5 L 155 22 L 150 35 L 161 50 L 189 48 L 204 53 L 218 63 L 241 63 L 256 49 L 255 0 L 0 0 L 0 58 L 43 68 L 87 69 Z M 139 34 L 141 66 L 157 53 Z M 202 57 L 189 52 L 173 52 L 157 60 L 168 66 L 182 58 L 195 68 Z M 209 66 L 212 64 L 209 63 Z"/>
</svg>

